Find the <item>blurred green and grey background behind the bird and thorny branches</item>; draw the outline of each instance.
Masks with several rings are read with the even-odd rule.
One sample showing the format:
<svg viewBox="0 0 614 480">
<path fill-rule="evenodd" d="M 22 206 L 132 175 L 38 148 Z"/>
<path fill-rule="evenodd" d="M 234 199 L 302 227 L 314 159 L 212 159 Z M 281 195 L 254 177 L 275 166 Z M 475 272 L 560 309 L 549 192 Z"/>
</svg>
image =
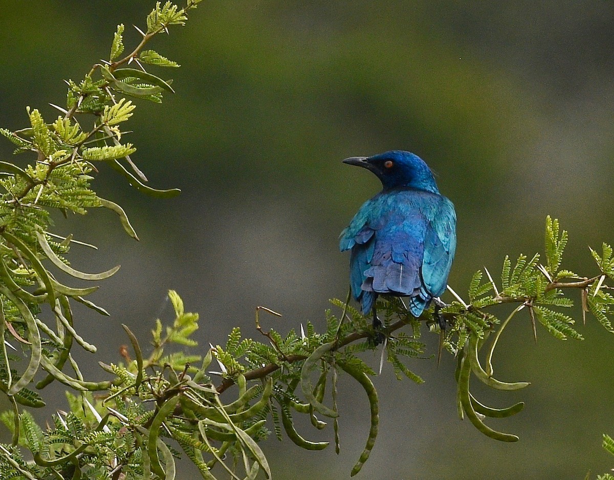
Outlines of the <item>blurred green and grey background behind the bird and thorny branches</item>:
<svg viewBox="0 0 614 480">
<path fill-rule="evenodd" d="M 150 1 L 6 1 L 0 15 L 0 126 L 26 126 L 25 106 L 48 121 L 64 79 L 79 80 L 107 58 L 117 23 L 126 49 Z M 93 211 L 58 217 L 57 231 L 93 242 L 74 247 L 88 271 L 120 263 L 93 298 L 110 319 L 79 310 L 96 343 L 82 362 L 117 361 L 120 322 L 146 338 L 169 319 L 166 291 L 200 312 L 198 340 L 223 343 L 231 326 L 256 336 L 254 308 L 284 314 L 281 331 L 310 319 L 324 325 L 328 298 L 344 298 L 348 255 L 337 237 L 379 188 L 340 163 L 389 149 L 418 153 L 456 205 L 457 257 L 449 283 L 464 292 L 476 269 L 543 246 L 547 214 L 570 231 L 564 267 L 596 274 L 588 246 L 613 242 L 614 8 L 611 2 L 443 0 L 205 0 L 185 28 L 151 48 L 182 64 L 157 71 L 177 90 L 163 106 L 139 104 L 126 136 L 153 187 L 179 187 L 171 200 L 139 195 L 103 165 L 101 196 L 125 208 L 141 238 L 117 217 Z M 0 144 L 2 160 L 12 147 Z M 25 158 L 20 161 L 25 161 Z M 575 309 L 574 316 L 581 318 Z M 375 378 L 379 437 L 361 478 L 584 478 L 614 464 L 600 447 L 614 434 L 614 338 L 589 319 L 585 341 L 561 342 L 518 316 L 495 355 L 499 377 L 530 381 L 521 392 L 478 398 L 524 400 L 512 419 L 492 421 L 521 440 L 502 444 L 456 415 L 454 360 L 414 360 L 426 384 Z M 426 335 L 429 337 L 429 335 Z M 437 338 L 428 338 L 429 353 Z M 367 355 L 376 365 L 378 354 Z M 103 373 L 95 367 L 93 378 Z M 475 383 L 475 382 L 474 382 Z M 341 385 L 341 455 L 265 445 L 276 478 L 348 478 L 367 436 L 367 402 Z M 53 390 L 54 408 L 65 408 Z M 332 432 L 309 438 L 332 438 Z M 184 466 L 181 478 L 195 478 Z"/>
</svg>

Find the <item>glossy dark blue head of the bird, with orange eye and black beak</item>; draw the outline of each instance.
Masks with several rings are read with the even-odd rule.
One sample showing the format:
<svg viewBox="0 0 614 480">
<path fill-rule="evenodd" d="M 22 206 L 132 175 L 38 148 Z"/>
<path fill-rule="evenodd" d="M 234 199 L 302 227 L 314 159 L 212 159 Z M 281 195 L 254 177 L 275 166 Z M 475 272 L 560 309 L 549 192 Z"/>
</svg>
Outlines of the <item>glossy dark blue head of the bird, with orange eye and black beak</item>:
<svg viewBox="0 0 614 480">
<path fill-rule="evenodd" d="M 373 157 L 350 157 L 343 160 L 370 170 L 381 180 L 384 190 L 394 187 L 412 187 L 439 193 L 433 173 L 422 158 L 403 150 L 391 150 Z"/>
</svg>

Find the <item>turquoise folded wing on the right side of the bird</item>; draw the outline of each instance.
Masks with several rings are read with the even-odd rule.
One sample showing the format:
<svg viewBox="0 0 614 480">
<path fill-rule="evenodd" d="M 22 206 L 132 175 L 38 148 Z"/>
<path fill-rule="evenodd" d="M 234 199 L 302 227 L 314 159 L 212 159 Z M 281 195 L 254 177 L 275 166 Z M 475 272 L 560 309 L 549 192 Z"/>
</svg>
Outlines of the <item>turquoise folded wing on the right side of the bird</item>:
<svg viewBox="0 0 614 480">
<path fill-rule="evenodd" d="M 448 274 L 456 250 L 456 213 L 444 196 L 436 203 L 425 204 L 427 229 L 424 236 L 422 281 L 427 292 L 440 296 L 446 289 Z"/>
</svg>

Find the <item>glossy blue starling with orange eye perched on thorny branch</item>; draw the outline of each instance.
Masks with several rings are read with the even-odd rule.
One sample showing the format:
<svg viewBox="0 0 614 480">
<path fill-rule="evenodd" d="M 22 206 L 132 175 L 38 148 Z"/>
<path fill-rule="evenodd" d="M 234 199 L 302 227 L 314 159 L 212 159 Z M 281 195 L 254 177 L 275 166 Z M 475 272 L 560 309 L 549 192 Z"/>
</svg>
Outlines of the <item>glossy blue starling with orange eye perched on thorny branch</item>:
<svg viewBox="0 0 614 480">
<path fill-rule="evenodd" d="M 351 250 L 349 279 L 364 315 L 378 295 L 407 296 L 419 317 L 446 289 L 456 249 L 454 205 L 439 193 L 424 161 L 392 150 L 373 157 L 351 157 L 348 165 L 367 168 L 383 189 L 367 200 L 340 235 L 340 250 Z"/>
</svg>

